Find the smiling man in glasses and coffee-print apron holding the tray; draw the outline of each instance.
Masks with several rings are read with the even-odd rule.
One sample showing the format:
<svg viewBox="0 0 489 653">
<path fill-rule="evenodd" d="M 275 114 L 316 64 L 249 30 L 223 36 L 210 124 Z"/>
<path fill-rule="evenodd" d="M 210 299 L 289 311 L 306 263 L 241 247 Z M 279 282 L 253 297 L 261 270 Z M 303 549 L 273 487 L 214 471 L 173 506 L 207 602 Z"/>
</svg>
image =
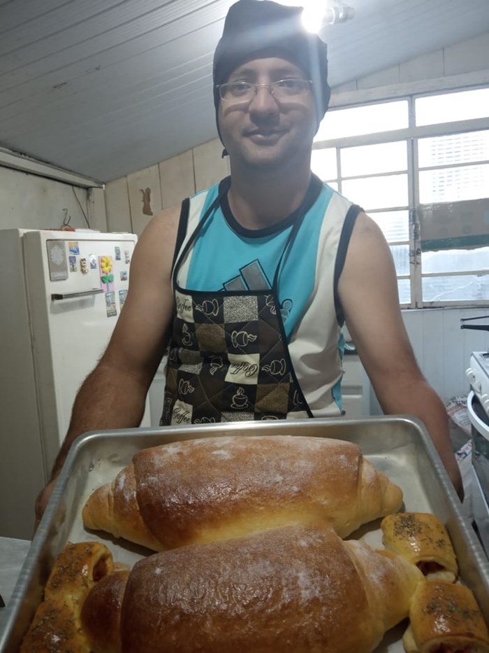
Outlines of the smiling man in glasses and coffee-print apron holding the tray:
<svg viewBox="0 0 489 653">
<path fill-rule="evenodd" d="M 302 29 L 299 8 L 231 7 L 214 55 L 231 178 L 147 225 L 54 479 L 76 436 L 139 425 L 168 343 L 162 424 L 340 415 L 346 321 L 384 412 L 425 423 L 461 493 L 446 411 L 411 351 L 386 241 L 310 171 L 327 72 L 326 45 Z"/>
</svg>

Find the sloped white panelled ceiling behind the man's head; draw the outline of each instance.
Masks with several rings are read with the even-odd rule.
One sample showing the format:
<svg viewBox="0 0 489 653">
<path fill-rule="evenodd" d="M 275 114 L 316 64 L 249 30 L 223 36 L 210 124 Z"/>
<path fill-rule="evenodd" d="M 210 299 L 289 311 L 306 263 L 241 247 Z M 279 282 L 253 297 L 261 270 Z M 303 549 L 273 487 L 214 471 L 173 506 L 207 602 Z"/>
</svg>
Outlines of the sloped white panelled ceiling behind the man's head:
<svg viewBox="0 0 489 653">
<path fill-rule="evenodd" d="M 0 145 L 110 181 L 214 138 L 232 3 L 0 0 Z M 489 0 L 348 4 L 321 32 L 333 87 L 489 29 Z"/>
</svg>

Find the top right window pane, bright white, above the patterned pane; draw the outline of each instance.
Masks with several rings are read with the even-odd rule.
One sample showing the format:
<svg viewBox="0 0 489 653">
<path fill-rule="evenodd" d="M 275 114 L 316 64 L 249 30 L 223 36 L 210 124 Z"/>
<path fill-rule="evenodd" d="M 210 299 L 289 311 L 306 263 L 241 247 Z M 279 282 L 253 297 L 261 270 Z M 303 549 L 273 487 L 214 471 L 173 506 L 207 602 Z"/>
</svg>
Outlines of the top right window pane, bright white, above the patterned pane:
<svg viewBox="0 0 489 653">
<path fill-rule="evenodd" d="M 414 103 L 416 125 L 487 118 L 488 108 L 489 88 L 418 97 Z"/>
</svg>

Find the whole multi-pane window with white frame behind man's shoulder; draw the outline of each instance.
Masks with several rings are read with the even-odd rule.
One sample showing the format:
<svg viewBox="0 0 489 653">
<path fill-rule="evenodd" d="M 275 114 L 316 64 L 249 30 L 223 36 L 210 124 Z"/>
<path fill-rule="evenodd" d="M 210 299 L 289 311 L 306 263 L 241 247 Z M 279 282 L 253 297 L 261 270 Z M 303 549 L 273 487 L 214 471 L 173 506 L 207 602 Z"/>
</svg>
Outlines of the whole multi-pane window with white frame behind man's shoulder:
<svg viewBox="0 0 489 653">
<path fill-rule="evenodd" d="M 332 108 L 312 170 L 381 228 L 403 307 L 489 301 L 489 88 Z"/>
</svg>

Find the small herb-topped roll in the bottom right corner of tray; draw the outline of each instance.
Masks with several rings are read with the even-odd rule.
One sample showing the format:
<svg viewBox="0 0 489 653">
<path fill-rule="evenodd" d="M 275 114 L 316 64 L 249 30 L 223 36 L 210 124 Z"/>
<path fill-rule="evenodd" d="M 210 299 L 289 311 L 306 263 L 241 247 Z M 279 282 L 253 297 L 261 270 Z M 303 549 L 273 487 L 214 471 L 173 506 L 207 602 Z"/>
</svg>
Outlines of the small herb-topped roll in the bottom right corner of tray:
<svg viewBox="0 0 489 653">
<path fill-rule="evenodd" d="M 418 586 L 402 643 L 407 653 L 489 653 L 488 629 L 474 594 L 447 582 Z"/>
</svg>

